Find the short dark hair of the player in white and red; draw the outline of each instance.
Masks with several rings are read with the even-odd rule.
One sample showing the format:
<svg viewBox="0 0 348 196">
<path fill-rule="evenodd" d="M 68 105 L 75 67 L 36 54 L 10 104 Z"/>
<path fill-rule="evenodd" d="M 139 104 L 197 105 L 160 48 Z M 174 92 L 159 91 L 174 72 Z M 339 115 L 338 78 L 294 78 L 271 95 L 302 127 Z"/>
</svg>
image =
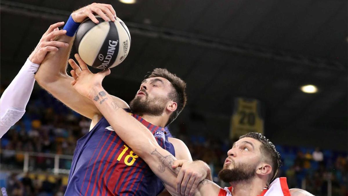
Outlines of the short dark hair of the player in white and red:
<svg viewBox="0 0 348 196">
<path fill-rule="evenodd" d="M 264 157 L 268 158 L 271 161 L 272 166 L 272 178 L 268 179 L 268 183 L 272 181 L 277 175 L 279 168 L 282 167 L 282 160 L 280 159 L 280 153 L 277 151 L 276 146 L 269 141 L 265 136 L 260 133 L 251 132 L 239 137 L 239 140 L 244 137 L 251 137 L 255 140 L 258 140 L 262 143 L 260 151 Z"/>
</svg>

